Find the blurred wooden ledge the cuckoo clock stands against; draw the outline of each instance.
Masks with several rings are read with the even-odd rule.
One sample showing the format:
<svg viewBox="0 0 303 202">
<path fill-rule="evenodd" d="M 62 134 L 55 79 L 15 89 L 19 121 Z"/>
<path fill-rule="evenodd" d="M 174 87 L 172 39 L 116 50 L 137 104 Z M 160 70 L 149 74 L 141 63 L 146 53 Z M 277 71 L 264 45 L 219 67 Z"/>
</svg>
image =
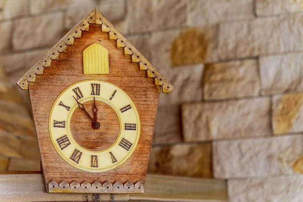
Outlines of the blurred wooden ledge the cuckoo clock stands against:
<svg viewBox="0 0 303 202">
<path fill-rule="evenodd" d="M 88 194 L 92 200 L 92 194 Z M 81 193 L 46 193 L 41 172 L 0 173 L 0 198 L 3 201 L 84 201 Z M 111 194 L 100 194 L 110 201 Z M 164 175 L 147 175 L 142 194 L 115 194 L 115 201 L 227 201 L 226 181 Z"/>
</svg>

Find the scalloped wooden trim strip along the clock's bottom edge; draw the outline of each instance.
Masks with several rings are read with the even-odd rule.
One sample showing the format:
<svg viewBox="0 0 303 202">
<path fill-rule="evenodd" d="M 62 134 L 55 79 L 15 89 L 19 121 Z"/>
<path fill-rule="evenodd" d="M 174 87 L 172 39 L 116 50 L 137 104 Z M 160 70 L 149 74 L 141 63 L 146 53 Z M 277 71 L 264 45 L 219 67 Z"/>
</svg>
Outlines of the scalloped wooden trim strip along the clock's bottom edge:
<svg viewBox="0 0 303 202">
<path fill-rule="evenodd" d="M 58 184 L 55 181 L 48 183 L 48 192 L 51 193 L 143 193 L 144 185 L 141 182 L 135 184 L 131 182 L 126 182 L 122 184 L 121 182 L 115 182 L 114 184 L 106 181 L 101 184 L 97 181 L 90 184 L 84 181 L 79 184 L 76 181 L 72 183 L 67 183 L 62 181 Z"/>
</svg>

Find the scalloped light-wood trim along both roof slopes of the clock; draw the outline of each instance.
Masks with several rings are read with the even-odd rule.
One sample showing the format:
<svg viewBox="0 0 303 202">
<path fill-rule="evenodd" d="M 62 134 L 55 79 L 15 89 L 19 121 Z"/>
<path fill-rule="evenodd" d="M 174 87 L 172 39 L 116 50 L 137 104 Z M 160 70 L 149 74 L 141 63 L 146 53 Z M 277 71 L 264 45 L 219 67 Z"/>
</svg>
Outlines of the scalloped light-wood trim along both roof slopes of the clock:
<svg viewBox="0 0 303 202">
<path fill-rule="evenodd" d="M 168 82 L 97 9 L 91 10 L 73 29 L 56 43 L 17 81 L 17 85 L 23 90 L 28 89 L 28 82 L 35 82 L 36 75 L 43 74 L 44 67 L 51 67 L 52 60 L 58 60 L 59 53 L 66 51 L 66 45 L 74 44 L 74 38 L 81 38 L 82 31 L 88 31 L 89 24 L 101 25 L 102 31 L 108 32 L 110 39 L 117 41 L 117 47 L 124 48 L 124 54 L 131 55 L 132 62 L 138 63 L 139 69 L 145 70 L 147 77 L 154 78 L 155 85 L 162 86 L 162 92 L 169 93 L 173 90 L 173 85 Z"/>
</svg>

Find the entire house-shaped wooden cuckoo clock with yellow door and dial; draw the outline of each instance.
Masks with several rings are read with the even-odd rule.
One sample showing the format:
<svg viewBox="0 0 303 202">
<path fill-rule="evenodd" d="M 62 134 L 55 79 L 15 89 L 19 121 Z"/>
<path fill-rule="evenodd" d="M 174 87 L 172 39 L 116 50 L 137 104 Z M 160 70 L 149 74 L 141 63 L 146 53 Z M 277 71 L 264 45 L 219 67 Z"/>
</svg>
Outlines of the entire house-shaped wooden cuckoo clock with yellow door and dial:
<svg viewBox="0 0 303 202">
<path fill-rule="evenodd" d="M 173 86 L 98 10 L 17 84 L 48 192 L 143 192 L 159 94 Z"/>
</svg>

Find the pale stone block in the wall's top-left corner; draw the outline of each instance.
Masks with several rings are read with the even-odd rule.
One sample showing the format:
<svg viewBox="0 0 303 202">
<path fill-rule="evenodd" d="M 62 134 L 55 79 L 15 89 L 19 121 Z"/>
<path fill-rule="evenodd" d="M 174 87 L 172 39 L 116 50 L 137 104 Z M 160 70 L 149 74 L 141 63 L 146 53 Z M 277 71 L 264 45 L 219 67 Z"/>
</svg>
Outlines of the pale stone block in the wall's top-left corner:
<svg viewBox="0 0 303 202">
<path fill-rule="evenodd" d="M 29 14 L 28 5 L 29 5 L 29 0 L 0 1 L 0 20 L 28 15 Z"/>
</svg>

